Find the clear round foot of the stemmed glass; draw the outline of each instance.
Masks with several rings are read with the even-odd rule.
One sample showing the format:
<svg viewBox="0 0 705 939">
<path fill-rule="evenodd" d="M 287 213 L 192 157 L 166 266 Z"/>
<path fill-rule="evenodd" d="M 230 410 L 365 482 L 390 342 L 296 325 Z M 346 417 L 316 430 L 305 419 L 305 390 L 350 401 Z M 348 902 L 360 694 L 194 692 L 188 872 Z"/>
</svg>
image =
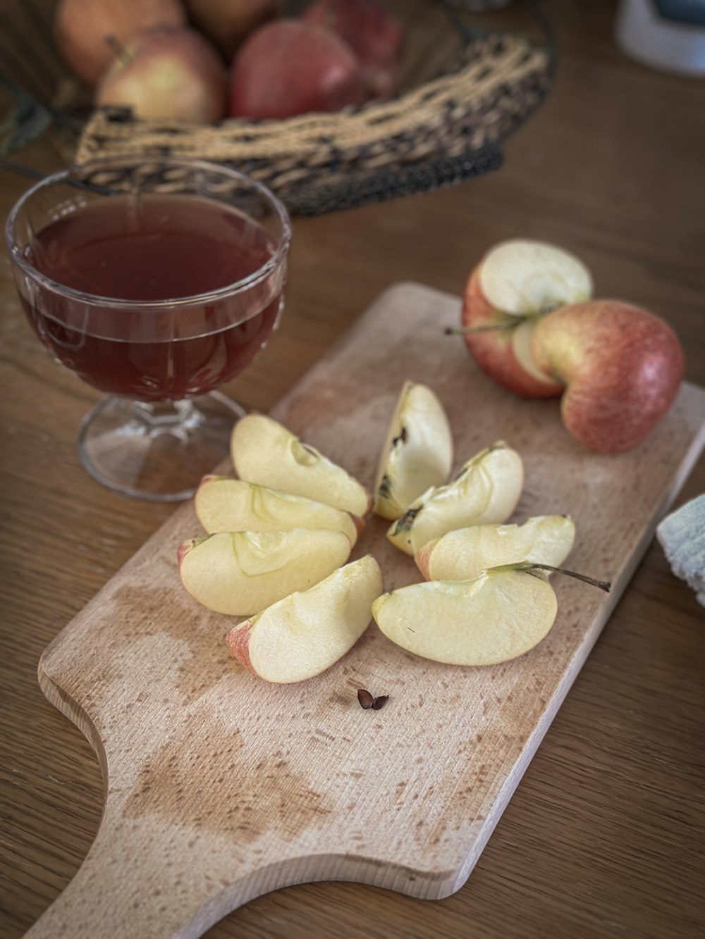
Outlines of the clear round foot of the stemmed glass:
<svg viewBox="0 0 705 939">
<path fill-rule="evenodd" d="M 179 502 L 227 456 L 244 414 L 219 392 L 155 404 L 112 395 L 86 414 L 78 454 L 90 475 L 116 492 Z"/>
</svg>

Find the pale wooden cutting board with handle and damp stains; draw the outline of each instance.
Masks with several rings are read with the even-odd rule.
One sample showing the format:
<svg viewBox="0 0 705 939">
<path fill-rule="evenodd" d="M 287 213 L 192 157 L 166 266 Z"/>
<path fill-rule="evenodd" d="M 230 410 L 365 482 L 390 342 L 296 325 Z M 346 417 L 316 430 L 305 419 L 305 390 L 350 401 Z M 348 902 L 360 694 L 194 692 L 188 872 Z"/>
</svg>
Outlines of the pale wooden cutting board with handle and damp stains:
<svg viewBox="0 0 705 939">
<path fill-rule="evenodd" d="M 105 784 L 98 837 L 31 936 L 197 936 L 277 887 L 351 880 L 440 899 L 467 879 L 551 720 L 705 439 L 705 392 L 685 385 L 628 454 L 587 452 L 553 401 L 483 376 L 444 327 L 460 301 L 388 290 L 274 409 L 371 485 L 406 378 L 446 407 L 456 464 L 497 439 L 525 459 L 514 518 L 568 513 L 570 566 L 612 593 L 556 578 L 558 616 L 532 652 L 462 669 L 417 658 L 372 623 L 337 665 L 267 685 L 229 654 L 233 620 L 180 587 L 176 548 L 200 533 L 181 507 L 49 646 L 39 681 L 95 747 Z M 389 590 L 419 579 L 372 519 Z M 619 622 L 611 624 L 619 629 Z M 360 708 L 356 692 L 389 695 Z"/>
</svg>

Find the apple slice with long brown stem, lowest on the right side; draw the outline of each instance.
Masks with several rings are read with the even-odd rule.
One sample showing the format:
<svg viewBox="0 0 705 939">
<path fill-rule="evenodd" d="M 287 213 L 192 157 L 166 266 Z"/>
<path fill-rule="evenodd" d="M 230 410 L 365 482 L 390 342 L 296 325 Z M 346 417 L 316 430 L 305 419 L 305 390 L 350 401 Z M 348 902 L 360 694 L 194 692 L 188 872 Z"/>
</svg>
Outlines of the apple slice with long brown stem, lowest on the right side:
<svg viewBox="0 0 705 939">
<path fill-rule="evenodd" d="M 387 639 L 447 665 L 496 665 L 533 649 L 556 619 L 542 571 L 509 564 L 470 580 L 429 580 L 372 604 Z"/>
</svg>

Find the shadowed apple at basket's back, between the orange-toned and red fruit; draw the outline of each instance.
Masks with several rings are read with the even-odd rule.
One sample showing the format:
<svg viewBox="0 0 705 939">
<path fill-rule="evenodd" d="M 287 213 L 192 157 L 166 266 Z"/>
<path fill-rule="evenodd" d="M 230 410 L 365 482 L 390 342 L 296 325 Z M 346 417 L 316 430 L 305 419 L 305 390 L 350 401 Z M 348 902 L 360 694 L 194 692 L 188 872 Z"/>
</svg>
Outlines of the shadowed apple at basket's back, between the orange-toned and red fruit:
<svg viewBox="0 0 705 939">
<path fill-rule="evenodd" d="M 185 0 L 189 17 L 229 62 L 246 36 L 281 16 L 284 0 Z"/>
</svg>

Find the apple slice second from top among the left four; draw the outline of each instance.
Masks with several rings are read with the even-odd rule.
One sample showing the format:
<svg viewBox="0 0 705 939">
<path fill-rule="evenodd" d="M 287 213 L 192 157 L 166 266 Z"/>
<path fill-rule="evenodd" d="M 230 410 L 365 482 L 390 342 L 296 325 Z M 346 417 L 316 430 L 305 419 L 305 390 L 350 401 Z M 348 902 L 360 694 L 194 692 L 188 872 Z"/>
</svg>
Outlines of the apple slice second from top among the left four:
<svg viewBox="0 0 705 939">
<path fill-rule="evenodd" d="M 198 521 L 209 534 L 323 528 L 342 531 L 352 546 L 364 525 L 361 519 L 332 505 L 229 476 L 204 476 L 196 489 L 194 506 Z"/>
</svg>

